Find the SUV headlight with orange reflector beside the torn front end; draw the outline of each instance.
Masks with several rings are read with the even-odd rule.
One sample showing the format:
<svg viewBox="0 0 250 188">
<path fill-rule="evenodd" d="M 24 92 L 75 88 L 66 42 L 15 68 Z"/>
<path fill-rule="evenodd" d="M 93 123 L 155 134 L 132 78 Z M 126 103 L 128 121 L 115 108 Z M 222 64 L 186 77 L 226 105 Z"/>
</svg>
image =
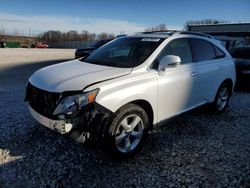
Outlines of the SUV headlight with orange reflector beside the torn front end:
<svg viewBox="0 0 250 188">
<path fill-rule="evenodd" d="M 84 106 L 95 101 L 98 92 L 99 89 L 95 89 L 86 93 L 66 96 L 59 102 L 53 115 L 72 116 L 77 114 Z"/>
</svg>

